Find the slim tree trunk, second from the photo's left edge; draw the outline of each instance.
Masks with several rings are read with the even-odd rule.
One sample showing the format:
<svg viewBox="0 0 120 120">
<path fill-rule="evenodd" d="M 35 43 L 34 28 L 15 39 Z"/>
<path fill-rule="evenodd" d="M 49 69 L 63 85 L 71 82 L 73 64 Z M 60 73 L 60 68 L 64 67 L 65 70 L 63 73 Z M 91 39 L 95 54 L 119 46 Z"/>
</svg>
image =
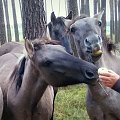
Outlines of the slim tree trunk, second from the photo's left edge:
<svg viewBox="0 0 120 120">
<path fill-rule="evenodd" d="M 3 0 L 3 2 L 4 2 L 5 16 L 6 16 L 7 38 L 8 38 L 8 42 L 10 42 L 12 40 L 12 37 L 11 37 L 10 21 L 8 14 L 8 1 Z"/>
</svg>

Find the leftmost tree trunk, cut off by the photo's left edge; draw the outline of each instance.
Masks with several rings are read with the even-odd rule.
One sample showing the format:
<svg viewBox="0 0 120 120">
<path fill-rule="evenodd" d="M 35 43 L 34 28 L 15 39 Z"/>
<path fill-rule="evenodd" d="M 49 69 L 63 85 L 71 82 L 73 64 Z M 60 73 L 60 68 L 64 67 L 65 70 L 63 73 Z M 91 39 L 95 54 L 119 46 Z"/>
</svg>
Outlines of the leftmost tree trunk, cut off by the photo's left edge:
<svg viewBox="0 0 120 120">
<path fill-rule="evenodd" d="M 3 3 L 0 0 L 0 45 L 6 42 L 5 22 L 3 13 Z"/>
</svg>

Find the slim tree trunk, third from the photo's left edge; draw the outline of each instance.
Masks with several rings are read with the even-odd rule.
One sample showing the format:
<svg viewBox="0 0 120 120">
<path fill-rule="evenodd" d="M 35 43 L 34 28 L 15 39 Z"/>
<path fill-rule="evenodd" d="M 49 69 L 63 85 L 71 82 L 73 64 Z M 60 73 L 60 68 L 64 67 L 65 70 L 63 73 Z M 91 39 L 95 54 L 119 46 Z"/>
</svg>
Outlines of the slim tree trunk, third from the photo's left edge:
<svg viewBox="0 0 120 120">
<path fill-rule="evenodd" d="M 14 1 L 14 0 L 11 0 L 11 3 L 12 3 L 12 11 L 13 11 L 13 22 L 14 22 L 14 30 L 15 30 L 15 41 L 16 41 L 16 42 L 19 42 L 19 31 L 18 31 L 18 24 L 17 24 L 15 1 Z"/>
</svg>

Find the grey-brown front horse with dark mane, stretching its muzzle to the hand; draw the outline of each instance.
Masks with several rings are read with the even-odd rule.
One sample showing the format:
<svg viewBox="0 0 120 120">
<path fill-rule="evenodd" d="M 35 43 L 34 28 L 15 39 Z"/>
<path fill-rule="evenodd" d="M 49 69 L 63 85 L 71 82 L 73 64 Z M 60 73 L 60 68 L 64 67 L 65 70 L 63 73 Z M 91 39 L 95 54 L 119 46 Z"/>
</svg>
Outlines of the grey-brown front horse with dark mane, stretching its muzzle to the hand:
<svg viewBox="0 0 120 120">
<path fill-rule="evenodd" d="M 0 57 L 0 84 L 4 95 L 2 118 L 5 120 L 49 120 L 53 109 L 49 85 L 92 84 L 97 79 L 94 65 L 73 57 L 60 45 L 26 40 L 25 48 L 27 58 L 23 56 L 17 65 L 18 57 L 14 53 Z M 42 98 L 47 89 L 50 92 Z M 41 114 L 41 100 L 46 100 L 44 105 L 49 106 L 46 111 L 49 117 Z"/>
</svg>

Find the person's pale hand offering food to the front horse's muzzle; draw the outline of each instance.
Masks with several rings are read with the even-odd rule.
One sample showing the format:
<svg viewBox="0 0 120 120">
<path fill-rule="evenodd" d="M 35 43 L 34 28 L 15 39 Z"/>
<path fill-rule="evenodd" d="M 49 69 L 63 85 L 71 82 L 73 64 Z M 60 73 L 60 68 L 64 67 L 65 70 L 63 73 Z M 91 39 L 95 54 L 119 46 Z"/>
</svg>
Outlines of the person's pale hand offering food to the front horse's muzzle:
<svg viewBox="0 0 120 120">
<path fill-rule="evenodd" d="M 112 70 L 102 71 L 99 72 L 98 74 L 103 84 L 110 88 L 112 88 L 117 82 L 117 80 L 120 78 L 120 76 L 117 73 L 113 72 Z"/>
</svg>

